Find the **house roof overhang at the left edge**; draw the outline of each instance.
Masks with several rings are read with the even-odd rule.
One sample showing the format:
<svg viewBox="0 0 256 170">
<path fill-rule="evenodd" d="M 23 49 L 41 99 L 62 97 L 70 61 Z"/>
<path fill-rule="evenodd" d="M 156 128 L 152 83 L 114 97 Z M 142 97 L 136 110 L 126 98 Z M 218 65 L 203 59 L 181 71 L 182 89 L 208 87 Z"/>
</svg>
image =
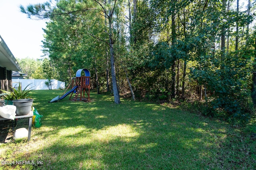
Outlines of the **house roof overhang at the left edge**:
<svg viewBox="0 0 256 170">
<path fill-rule="evenodd" d="M 21 71 L 19 63 L 16 61 L 12 52 L 0 35 L 0 66 L 6 67 L 7 70 Z"/>
</svg>

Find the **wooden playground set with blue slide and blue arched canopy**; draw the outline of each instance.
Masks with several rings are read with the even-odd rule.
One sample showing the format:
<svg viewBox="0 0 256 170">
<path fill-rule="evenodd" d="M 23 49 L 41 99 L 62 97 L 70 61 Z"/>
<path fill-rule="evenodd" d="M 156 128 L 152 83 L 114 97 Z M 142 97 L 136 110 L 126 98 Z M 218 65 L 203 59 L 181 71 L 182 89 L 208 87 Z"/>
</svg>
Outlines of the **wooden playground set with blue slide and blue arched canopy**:
<svg viewBox="0 0 256 170">
<path fill-rule="evenodd" d="M 81 76 L 84 72 L 84 76 Z M 72 89 L 68 92 L 66 92 L 70 86 L 72 85 Z M 84 94 L 87 94 L 88 98 L 84 98 Z M 53 98 L 50 103 L 57 102 L 59 100 L 64 99 L 69 94 L 69 100 L 72 101 L 87 101 L 90 100 L 90 71 L 86 68 L 79 69 L 76 71 L 76 77 L 72 78 L 72 82 L 68 85 L 68 88 L 66 88 L 65 92 L 62 94 L 62 96 L 57 96 L 56 98 Z M 72 98 L 72 95 L 74 94 L 74 97 Z"/>
</svg>

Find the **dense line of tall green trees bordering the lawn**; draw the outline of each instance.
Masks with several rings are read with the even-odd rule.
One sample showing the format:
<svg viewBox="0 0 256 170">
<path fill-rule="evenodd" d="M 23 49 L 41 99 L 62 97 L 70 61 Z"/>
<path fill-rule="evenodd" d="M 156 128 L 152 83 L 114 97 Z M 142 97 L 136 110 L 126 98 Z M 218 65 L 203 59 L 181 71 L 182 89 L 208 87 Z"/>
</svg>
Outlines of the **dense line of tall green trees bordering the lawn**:
<svg viewBox="0 0 256 170">
<path fill-rule="evenodd" d="M 202 101 L 205 115 L 247 122 L 256 104 L 255 1 L 58 0 L 20 7 L 50 19 L 44 52 L 70 82 L 142 100 Z"/>
</svg>

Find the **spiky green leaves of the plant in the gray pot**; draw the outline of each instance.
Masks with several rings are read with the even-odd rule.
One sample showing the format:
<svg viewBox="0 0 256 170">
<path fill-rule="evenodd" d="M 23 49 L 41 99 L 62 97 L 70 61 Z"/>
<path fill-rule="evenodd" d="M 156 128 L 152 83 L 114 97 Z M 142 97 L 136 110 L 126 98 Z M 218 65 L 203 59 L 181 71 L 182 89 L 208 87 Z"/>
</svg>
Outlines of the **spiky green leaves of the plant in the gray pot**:
<svg viewBox="0 0 256 170">
<path fill-rule="evenodd" d="M 28 84 L 29 86 L 30 84 Z M 31 98 L 29 95 L 29 93 L 34 90 L 29 88 L 28 90 L 26 90 L 28 88 L 28 86 L 26 86 L 24 88 L 24 90 L 22 90 L 21 85 L 19 83 L 18 88 L 16 87 L 11 87 L 11 89 L 9 91 L 6 90 L 0 90 L 1 92 L 6 93 L 6 95 L 4 95 L 2 98 L 5 100 L 17 100 L 17 99 L 28 99 Z"/>
</svg>

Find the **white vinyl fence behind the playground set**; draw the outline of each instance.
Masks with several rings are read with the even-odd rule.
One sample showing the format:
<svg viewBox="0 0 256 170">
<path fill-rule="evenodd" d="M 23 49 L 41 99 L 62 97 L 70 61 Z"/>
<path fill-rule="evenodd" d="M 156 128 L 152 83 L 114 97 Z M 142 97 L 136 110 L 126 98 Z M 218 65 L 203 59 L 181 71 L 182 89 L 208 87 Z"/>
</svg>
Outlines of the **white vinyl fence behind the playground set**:
<svg viewBox="0 0 256 170">
<path fill-rule="evenodd" d="M 21 85 L 22 90 L 26 88 L 26 86 L 29 86 L 26 88 L 28 90 L 29 88 L 34 90 L 48 90 L 48 87 L 46 86 L 45 82 L 48 81 L 46 79 L 12 79 L 12 87 L 18 87 L 19 83 Z M 52 80 L 52 89 L 64 89 L 65 88 L 65 82 L 61 82 L 59 80 Z M 30 90 L 31 90 L 30 89 Z"/>
</svg>

